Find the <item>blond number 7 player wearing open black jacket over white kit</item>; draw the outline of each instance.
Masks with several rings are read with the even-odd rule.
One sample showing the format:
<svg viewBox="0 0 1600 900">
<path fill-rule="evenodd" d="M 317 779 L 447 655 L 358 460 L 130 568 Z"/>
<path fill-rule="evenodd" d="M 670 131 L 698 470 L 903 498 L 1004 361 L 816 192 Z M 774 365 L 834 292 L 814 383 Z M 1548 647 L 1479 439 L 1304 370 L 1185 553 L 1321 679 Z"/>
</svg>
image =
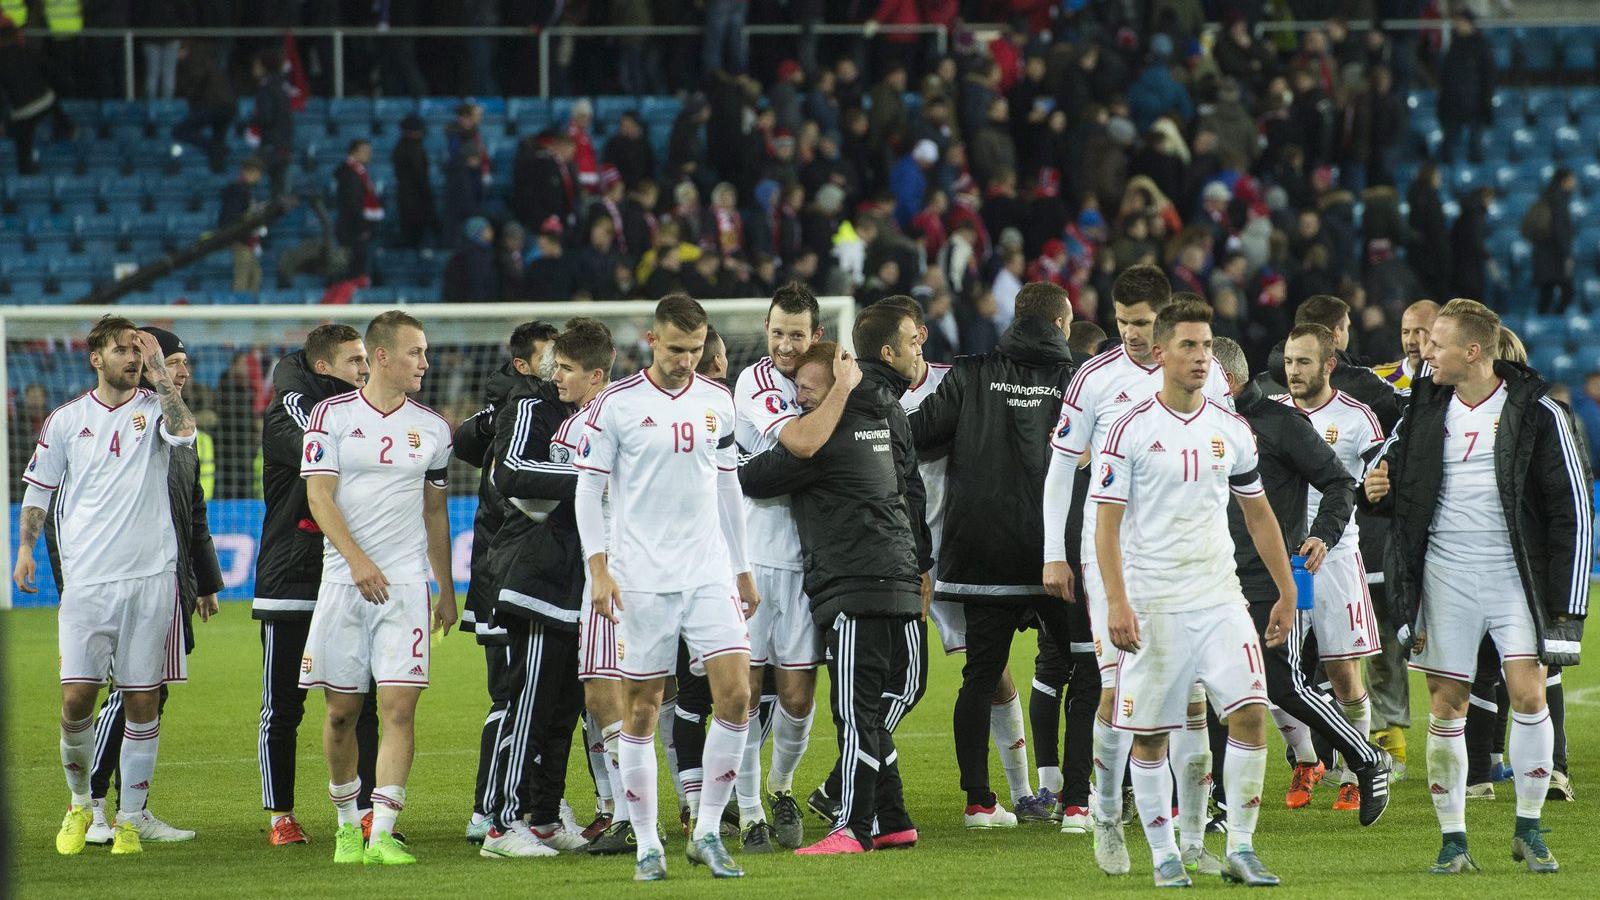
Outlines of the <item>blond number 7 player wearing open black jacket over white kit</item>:
<svg viewBox="0 0 1600 900">
<path fill-rule="evenodd" d="M 1570 413 L 1538 373 L 1496 359 L 1499 328 L 1474 299 L 1438 311 L 1424 349 L 1434 389 L 1413 389 L 1363 482 L 1366 503 L 1394 516 L 1397 639 L 1427 674 L 1427 780 L 1443 834 L 1435 874 L 1477 870 L 1466 716 L 1485 634 L 1512 708 L 1512 860 L 1558 870 L 1539 822 L 1555 764 L 1546 666 L 1579 661 L 1594 506 Z"/>
</svg>

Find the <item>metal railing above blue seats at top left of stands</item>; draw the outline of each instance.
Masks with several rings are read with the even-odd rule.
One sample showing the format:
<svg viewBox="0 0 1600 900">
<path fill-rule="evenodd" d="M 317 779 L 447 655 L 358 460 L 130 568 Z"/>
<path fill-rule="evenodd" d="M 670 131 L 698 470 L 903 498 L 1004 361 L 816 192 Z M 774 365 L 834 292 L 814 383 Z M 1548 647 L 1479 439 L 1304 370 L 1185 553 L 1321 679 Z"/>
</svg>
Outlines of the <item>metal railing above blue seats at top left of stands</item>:
<svg viewBox="0 0 1600 900">
<path fill-rule="evenodd" d="M 995 26 L 968 24 L 966 29 L 992 29 Z M 134 42 L 179 40 L 179 38 L 238 38 L 238 37 L 282 37 L 293 34 L 296 38 L 328 38 L 333 45 L 333 96 L 344 96 L 344 38 L 398 38 L 398 37 L 501 37 L 530 38 L 539 46 L 539 98 L 550 96 L 550 38 L 552 37 L 696 37 L 704 34 L 701 26 L 552 26 L 541 27 L 227 27 L 227 29 L 83 29 L 70 35 L 56 35 L 45 29 L 27 29 L 30 37 L 42 38 L 115 38 L 122 42 L 123 99 L 138 99 L 134 93 Z M 814 34 L 819 37 L 861 35 L 866 37 L 862 24 L 816 24 L 810 29 L 803 26 L 746 26 L 749 37 L 800 37 Z M 946 26 L 894 26 L 886 24 L 874 30 L 877 35 L 931 35 L 934 51 L 944 54 L 950 48 L 950 29 Z"/>
</svg>

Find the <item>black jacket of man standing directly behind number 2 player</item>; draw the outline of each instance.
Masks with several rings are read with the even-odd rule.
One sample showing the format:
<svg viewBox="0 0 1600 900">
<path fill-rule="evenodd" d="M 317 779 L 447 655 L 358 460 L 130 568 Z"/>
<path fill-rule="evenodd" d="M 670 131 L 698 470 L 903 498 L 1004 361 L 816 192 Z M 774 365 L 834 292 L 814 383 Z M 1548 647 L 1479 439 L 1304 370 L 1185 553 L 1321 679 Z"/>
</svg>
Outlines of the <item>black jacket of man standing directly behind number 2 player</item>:
<svg viewBox="0 0 1600 900">
<path fill-rule="evenodd" d="M 322 528 L 306 503 L 299 477 L 310 410 L 346 394 L 352 384 L 317 375 L 306 351 L 294 351 L 272 370 L 272 404 L 261 416 L 261 546 L 256 552 L 254 618 L 310 618 L 322 583 Z"/>
</svg>

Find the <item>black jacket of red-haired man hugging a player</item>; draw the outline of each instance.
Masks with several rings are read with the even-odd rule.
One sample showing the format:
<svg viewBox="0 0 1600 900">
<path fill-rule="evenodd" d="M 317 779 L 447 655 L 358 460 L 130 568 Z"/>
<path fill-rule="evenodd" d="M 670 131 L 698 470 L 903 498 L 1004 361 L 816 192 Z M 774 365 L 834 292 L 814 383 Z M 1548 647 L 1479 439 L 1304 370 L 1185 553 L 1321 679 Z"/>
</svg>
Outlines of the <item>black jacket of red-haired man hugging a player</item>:
<svg viewBox="0 0 1600 900">
<path fill-rule="evenodd" d="M 861 362 L 861 384 L 834 436 L 810 460 L 781 444 L 739 466 L 746 496 L 789 495 L 805 562 L 811 618 L 838 613 L 922 615 L 928 569 L 917 450 L 899 397 L 910 383 L 880 362 Z"/>
</svg>

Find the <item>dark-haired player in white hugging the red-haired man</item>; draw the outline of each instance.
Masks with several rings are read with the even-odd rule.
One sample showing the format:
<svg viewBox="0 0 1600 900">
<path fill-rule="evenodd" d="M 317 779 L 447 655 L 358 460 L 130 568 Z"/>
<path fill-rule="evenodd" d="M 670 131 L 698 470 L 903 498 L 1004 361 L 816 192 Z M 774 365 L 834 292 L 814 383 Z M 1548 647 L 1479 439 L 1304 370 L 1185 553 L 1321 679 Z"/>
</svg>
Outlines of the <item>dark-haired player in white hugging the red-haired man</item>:
<svg viewBox="0 0 1600 900">
<path fill-rule="evenodd" d="M 734 439 L 741 455 L 762 453 L 781 444 L 795 456 L 810 458 L 834 434 L 845 400 L 854 388 L 851 383 L 846 381 L 843 391 L 829 394 L 805 418 L 800 418 L 795 400 L 795 367 L 805 351 L 822 338 L 821 315 L 816 296 L 803 283 L 790 282 L 773 295 L 765 323 L 768 356 L 741 372 L 733 389 Z M 773 767 L 768 775 L 773 825 L 766 823 L 762 809 L 763 740 L 760 733 L 752 733 L 739 765 L 739 830 L 744 842 L 752 847 L 776 839 L 779 846 L 794 850 L 805 842 L 794 777 L 811 737 L 822 637 L 811 621 L 811 602 L 802 585 L 800 533 L 789 511 L 789 498 L 746 498 L 744 519 L 749 528 L 750 573 L 762 596 L 760 609 L 750 617 L 750 721 L 758 721 L 757 701 L 766 666 L 774 669 L 778 711 L 773 716 Z"/>
</svg>

